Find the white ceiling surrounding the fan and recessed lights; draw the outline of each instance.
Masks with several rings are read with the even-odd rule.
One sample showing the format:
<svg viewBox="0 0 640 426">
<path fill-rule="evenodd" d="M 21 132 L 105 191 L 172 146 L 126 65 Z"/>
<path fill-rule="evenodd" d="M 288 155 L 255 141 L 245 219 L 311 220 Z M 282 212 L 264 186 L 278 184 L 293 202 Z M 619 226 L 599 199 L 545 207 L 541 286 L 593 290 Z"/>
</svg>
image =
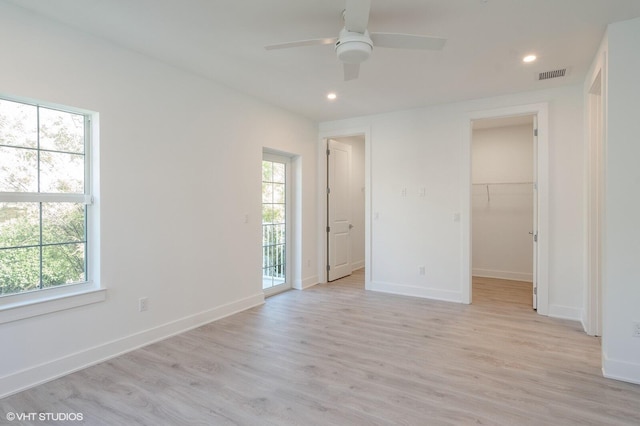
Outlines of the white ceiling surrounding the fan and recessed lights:
<svg viewBox="0 0 640 426">
<path fill-rule="evenodd" d="M 580 83 L 606 25 L 640 16 L 639 0 L 372 0 L 371 31 L 447 44 L 375 49 L 360 78 L 344 82 L 332 46 L 263 48 L 337 36 L 344 0 L 4 1 L 315 121 Z M 530 52 L 539 59 L 525 65 Z M 564 67 L 567 77 L 536 80 Z"/>
</svg>

